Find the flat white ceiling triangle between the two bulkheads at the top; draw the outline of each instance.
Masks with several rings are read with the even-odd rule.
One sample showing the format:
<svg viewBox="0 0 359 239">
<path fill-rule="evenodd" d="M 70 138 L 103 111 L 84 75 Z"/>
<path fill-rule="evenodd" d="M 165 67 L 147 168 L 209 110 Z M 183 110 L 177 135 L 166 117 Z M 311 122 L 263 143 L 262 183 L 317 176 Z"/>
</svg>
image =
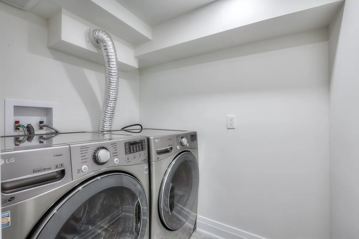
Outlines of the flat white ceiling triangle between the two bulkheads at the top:
<svg viewBox="0 0 359 239">
<path fill-rule="evenodd" d="M 116 0 L 150 27 L 164 23 L 215 0 Z"/>
</svg>

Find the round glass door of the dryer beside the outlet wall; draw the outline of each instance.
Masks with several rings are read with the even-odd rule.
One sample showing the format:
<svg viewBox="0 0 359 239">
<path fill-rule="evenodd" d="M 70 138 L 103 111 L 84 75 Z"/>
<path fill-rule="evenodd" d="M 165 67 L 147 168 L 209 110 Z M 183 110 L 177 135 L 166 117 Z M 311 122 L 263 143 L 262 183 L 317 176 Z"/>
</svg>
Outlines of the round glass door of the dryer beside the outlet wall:
<svg viewBox="0 0 359 239">
<path fill-rule="evenodd" d="M 167 168 L 159 192 L 160 218 L 168 229 L 176 230 L 190 217 L 199 185 L 196 157 L 190 152 L 179 154 Z"/>
</svg>

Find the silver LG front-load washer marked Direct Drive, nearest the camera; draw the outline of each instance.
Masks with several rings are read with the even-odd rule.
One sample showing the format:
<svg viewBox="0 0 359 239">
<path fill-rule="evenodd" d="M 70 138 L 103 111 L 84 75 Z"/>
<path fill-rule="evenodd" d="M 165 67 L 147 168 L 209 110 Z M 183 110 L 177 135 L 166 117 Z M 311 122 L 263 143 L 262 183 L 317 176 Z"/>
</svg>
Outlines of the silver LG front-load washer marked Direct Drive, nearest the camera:
<svg viewBox="0 0 359 239">
<path fill-rule="evenodd" d="M 148 239 L 147 152 L 143 135 L 1 137 L 3 238 Z"/>
</svg>

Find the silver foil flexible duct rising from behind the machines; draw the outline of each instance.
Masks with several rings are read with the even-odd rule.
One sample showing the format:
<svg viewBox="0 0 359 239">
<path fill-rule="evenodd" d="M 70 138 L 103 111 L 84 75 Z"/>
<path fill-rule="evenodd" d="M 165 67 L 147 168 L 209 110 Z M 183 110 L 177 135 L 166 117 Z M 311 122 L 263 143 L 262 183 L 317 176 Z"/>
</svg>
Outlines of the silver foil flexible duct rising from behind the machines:
<svg viewBox="0 0 359 239">
<path fill-rule="evenodd" d="M 105 63 L 105 97 L 98 129 L 99 131 L 108 131 L 112 129 L 113 114 L 115 113 L 118 95 L 117 53 L 111 36 L 104 30 L 95 29 L 93 38 L 101 46 Z"/>
</svg>

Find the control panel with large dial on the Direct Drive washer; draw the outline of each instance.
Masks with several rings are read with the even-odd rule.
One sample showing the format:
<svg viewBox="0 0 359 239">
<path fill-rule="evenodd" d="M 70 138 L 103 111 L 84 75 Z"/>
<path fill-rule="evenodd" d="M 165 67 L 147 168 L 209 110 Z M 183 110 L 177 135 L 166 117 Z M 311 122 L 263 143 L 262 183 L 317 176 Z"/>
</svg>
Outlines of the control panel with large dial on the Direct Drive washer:
<svg viewBox="0 0 359 239">
<path fill-rule="evenodd" d="M 148 162 L 146 145 L 145 136 L 70 144 L 73 180 L 102 168 Z"/>
</svg>

